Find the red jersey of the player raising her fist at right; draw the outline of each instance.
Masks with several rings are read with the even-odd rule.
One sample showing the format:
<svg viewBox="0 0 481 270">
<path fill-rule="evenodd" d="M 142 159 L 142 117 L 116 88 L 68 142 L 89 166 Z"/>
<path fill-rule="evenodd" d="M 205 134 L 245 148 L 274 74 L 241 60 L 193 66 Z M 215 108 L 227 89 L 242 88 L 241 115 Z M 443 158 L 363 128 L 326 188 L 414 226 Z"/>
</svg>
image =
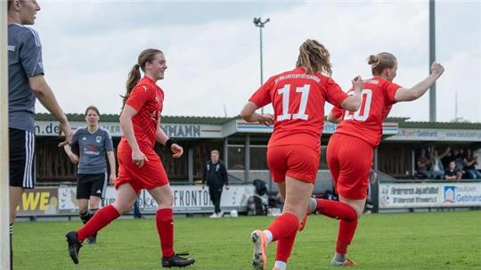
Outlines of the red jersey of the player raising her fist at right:
<svg viewBox="0 0 481 270">
<path fill-rule="evenodd" d="M 359 110 L 333 108 L 330 111 L 337 118 L 343 116 L 335 133 L 355 136 L 373 148 L 378 147 L 382 137 L 382 122 L 395 103 L 395 93 L 400 87 L 379 77 L 364 80 Z"/>
</svg>

